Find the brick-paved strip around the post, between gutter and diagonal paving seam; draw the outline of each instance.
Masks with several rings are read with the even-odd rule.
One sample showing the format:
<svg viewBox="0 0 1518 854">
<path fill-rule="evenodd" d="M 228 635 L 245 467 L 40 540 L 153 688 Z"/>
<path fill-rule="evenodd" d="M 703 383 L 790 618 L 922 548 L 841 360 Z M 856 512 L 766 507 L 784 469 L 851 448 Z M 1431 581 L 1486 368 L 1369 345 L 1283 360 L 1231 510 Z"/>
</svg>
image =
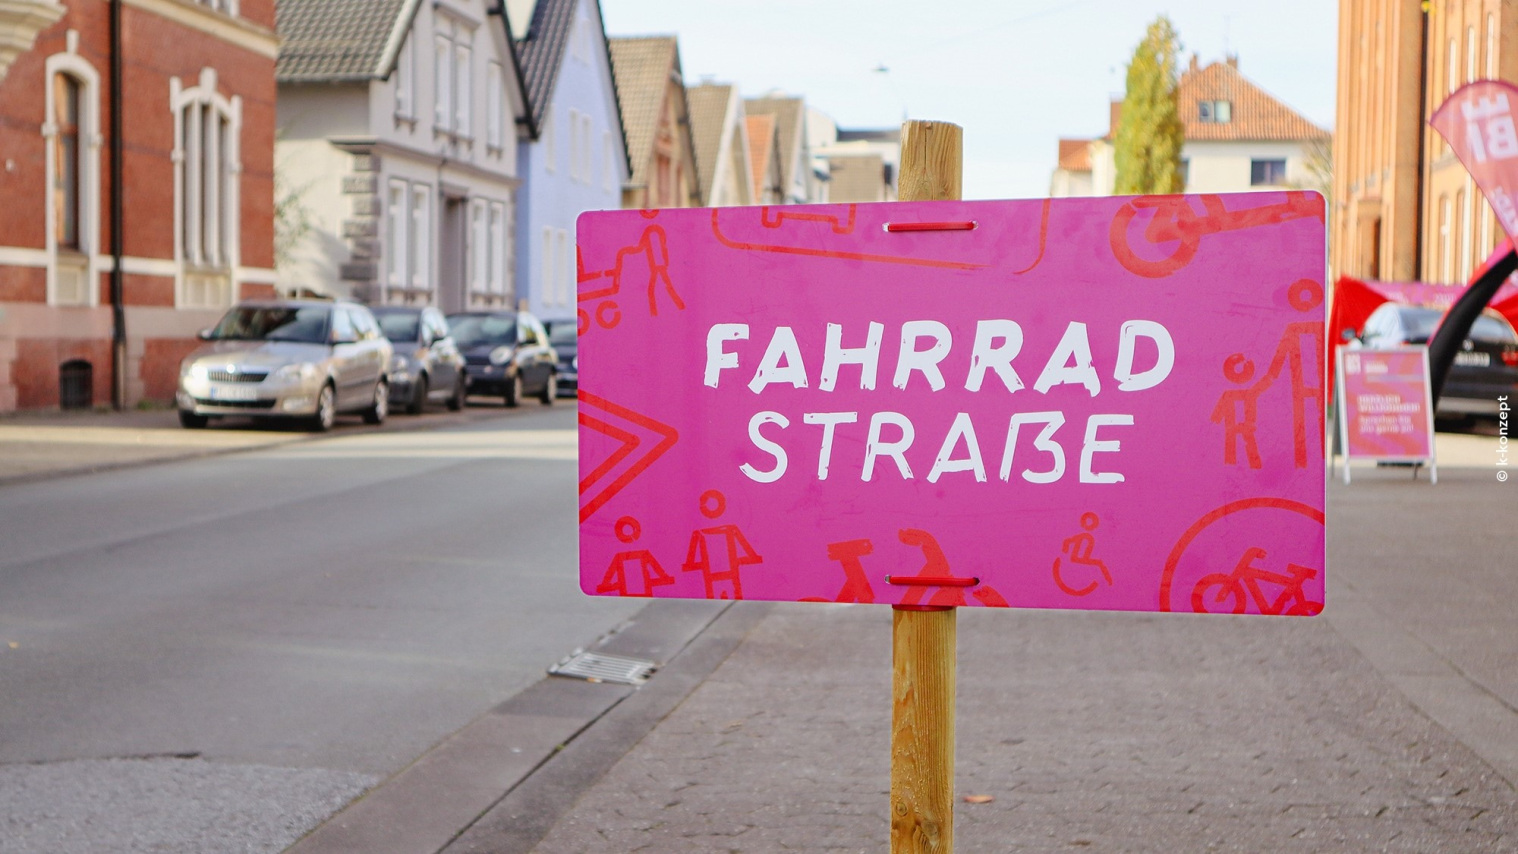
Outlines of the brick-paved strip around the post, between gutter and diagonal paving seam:
<svg viewBox="0 0 1518 854">
<path fill-rule="evenodd" d="M 536 851 L 887 849 L 890 637 L 777 607 Z M 1513 789 L 1325 619 L 962 611 L 958 677 L 959 851 L 1518 851 Z"/>
</svg>

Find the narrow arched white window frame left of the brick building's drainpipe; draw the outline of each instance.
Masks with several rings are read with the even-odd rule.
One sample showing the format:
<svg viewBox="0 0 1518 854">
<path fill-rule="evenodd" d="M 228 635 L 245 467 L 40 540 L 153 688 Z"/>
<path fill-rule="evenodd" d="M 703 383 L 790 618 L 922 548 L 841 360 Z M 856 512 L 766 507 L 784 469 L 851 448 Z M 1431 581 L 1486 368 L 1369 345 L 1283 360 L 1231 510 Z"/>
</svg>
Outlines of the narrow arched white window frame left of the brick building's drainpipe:
<svg viewBox="0 0 1518 854">
<path fill-rule="evenodd" d="M 55 53 L 44 62 L 47 94 L 44 100 L 44 165 L 47 181 L 58 168 L 53 162 L 53 137 L 58 127 L 53 124 L 56 105 L 53 103 L 53 77 L 67 74 L 79 85 L 79 253 L 85 258 L 82 287 L 67 287 L 65 279 L 74 278 L 76 270 L 59 270 L 59 235 L 56 234 L 58 211 L 52 187 L 46 193 L 43 218 L 44 247 L 47 250 L 47 303 L 49 305 L 99 305 L 100 303 L 100 149 L 103 137 L 100 133 L 100 74 L 87 59 L 76 53 L 77 36 L 70 30 L 68 50 Z M 71 252 L 71 250 L 70 250 Z M 61 287 L 62 285 L 62 287 Z M 71 293 L 70 293 L 71 291 Z"/>
</svg>

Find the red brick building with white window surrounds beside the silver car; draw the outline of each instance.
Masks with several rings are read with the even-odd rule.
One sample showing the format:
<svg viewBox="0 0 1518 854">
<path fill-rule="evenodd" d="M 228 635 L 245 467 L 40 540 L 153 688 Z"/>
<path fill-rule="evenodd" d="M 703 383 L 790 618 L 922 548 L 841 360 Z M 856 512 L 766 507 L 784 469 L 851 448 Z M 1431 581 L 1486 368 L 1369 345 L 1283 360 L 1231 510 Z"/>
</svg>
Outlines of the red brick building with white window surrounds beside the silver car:
<svg viewBox="0 0 1518 854">
<path fill-rule="evenodd" d="M 275 0 L 17 2 L 35 14 L 0 11 L 0 42 L 35 39 L 0 68 L 0 413 L 170 402 L 196 331 L 273 294 Z"/>
</svg>

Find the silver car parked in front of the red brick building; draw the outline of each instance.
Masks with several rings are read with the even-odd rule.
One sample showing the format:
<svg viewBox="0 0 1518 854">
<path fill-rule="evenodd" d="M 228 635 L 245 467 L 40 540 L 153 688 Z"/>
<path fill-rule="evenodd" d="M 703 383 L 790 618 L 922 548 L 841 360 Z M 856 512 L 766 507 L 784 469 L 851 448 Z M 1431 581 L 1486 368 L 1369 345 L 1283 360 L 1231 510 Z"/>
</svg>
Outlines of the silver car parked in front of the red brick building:
<svg viewBox="0 0 1518 854">
<path fill-rule="evenodd" d="M 390 410 L 390 341 L 349 302 L 258 300 L 232 306 L 179 364 L 179 423 L 219 416 L 301 419 L 331 429 L 339 413 L 376 425 Z"/>
</svg>

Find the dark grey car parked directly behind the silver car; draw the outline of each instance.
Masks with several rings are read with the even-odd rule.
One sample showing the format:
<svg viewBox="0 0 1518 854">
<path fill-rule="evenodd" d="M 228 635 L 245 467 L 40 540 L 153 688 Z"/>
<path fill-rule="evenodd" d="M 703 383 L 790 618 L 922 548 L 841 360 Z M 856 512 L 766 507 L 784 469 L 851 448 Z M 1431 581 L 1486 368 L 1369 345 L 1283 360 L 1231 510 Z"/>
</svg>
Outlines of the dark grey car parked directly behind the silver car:
<svg viewBox="0 0 1518 854">
<path fill-rule="evenodd" d="M 369 311 L 395 347 L 390 356 L 390 400 L 417 414 L 428 400 L 449 410 L 465 405 L 465 358 L 443 312 L 431 306 L 384 305 Z"/>
</svg>

